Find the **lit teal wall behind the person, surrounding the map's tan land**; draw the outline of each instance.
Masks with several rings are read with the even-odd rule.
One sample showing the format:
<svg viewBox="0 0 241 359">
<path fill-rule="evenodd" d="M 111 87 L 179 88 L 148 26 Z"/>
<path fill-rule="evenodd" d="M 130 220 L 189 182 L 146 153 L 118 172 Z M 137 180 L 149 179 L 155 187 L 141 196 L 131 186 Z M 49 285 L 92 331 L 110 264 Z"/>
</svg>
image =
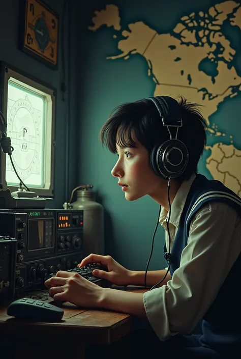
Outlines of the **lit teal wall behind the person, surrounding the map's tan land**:
<svg viewBox="0 0 241 359">
<path fill-rule="evenodd" d="M 91 1 L 85 3 L 84 7 L 80 2 L 76 5 L 80 34 L 78 184 L 92 183 L 98 191 L 106 213 L 106 254 L 111 254 L 130 269 L 145 268 L 159 206 L 148 197 L 135 202 L 125 200 L 123 192 L 117 186 L 117 180 L 110 174 L 116 157 L 102 148 L 98 135 L 101 126 L 116 105 L 152 96 L 156 85 L 153 79 L 147 76 L 147 62 L 139 54 L 131 56 L 129 60 L 106 60 L 106 57 L 120 53 L 117 41 L 113 38 L 113 29 L 101 26 L 93 32 L 88 30 L 88 26 L 93 26 L 92 18 L 96 10 L 104 9 L 107 4 L 115 4 L 119 8 L 122 29 L 129 30 L 129 23 L 143 21 L 159 33 L 169 33 L 182 16 L 200 10 L 208 11 L 210 6 L 217 3 L 219 1 L 214 0 L 203 0 L 200 4 L 193 0 L 114 0 Z M 240 43 L 238 36 L 240 35 L 235 39 Z M 240 52 L 235 61 L 238 62 L 238 59 L 240 60 Z M 239 107 L 240 98 L 239 93 Z M 237 106 L 237 101 L 235 103 Z M 222 111 L 229 114 L 232 106 L 233 103 L 228 102 L 227 105 L 223 105 Z M 232 116 L 236 116 L 236 123 L 239 124 L 237 115 Z M 238 140 L 237 135 L 236 142 Z M 200 171 L 212 178 L 204 162 L 200 163 Z M 161 226 L 159 227 L 150 269 L 164 265 L 164 231 Z"/>
</svg>

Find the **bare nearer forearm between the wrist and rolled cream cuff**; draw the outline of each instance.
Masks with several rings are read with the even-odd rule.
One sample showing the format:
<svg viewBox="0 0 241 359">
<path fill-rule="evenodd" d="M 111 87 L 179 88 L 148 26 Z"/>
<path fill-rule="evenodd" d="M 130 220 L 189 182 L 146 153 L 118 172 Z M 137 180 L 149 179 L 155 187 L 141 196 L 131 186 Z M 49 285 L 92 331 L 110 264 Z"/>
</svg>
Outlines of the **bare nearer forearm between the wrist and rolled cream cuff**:
<svg viewBox="0 0 241 359">
<path fill-rule="evenodd" d="M 102 288 L 97 307 L 147 318 L 143 302 L 143 293 Z"/>
</svg>

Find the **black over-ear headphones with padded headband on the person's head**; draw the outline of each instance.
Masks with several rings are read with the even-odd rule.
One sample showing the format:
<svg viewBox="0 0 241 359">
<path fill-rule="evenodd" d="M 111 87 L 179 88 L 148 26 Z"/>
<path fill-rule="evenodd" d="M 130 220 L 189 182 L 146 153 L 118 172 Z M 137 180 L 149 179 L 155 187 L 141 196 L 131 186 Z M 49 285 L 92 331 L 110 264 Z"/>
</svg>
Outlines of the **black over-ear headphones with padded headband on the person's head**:
<svg viewBox="0 0 241 359">
<path fill-rule="evenodd" d="M 157 144 L 150 152 L 150 165 L 157 176 L 176 178 L 185 171 L 189 158 L 186 145 L 177 140 L 178 129 L 183 126 L 180 106 L 169 96 L 149 97 L 149 100 L 155 103 L 163 126 L 167 127 L 170 134 L 170 140 Z M 169 127 L 176 128 L 175 138 L 172 138 Z"/>
</svg>

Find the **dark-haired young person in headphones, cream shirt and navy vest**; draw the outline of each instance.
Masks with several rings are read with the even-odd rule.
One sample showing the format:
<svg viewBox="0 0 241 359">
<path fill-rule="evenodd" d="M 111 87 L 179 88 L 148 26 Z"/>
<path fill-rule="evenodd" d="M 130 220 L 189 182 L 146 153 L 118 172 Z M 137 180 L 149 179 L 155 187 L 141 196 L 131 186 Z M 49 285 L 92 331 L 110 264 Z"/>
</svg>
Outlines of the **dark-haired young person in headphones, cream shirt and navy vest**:
<svg viewBox="0 0 241 359">
<path fill-rule="evenodd" d="M 130 357 L 144 357 L 145 348 L 149 353 L 154 346 L 160 356 L 182 359 L 227 358 L 234 352 L 239 357 L 241 200 L 221 182 L 197 173 L 206 125 L 196 104 L 158 96 L 120 105 L 100 138 L 118 155 L 112 175 L 126 199 L 148 195 L 160 204 L 169 272 L 165 277 L 163 269 L 131 271 L 110 256 L 91 254 L 80 267 L 99 262 L 108 271 L 94 271 L 97 277 L 152 290 L 101 288 L 77 273 L 59 271 L 45 282 L 50 295 L 146 319 L 153 335 L 131 342 L 136 356 L 130 351 Z M 191 335 L 201 319 L 203 334 Z"/>
</svg>

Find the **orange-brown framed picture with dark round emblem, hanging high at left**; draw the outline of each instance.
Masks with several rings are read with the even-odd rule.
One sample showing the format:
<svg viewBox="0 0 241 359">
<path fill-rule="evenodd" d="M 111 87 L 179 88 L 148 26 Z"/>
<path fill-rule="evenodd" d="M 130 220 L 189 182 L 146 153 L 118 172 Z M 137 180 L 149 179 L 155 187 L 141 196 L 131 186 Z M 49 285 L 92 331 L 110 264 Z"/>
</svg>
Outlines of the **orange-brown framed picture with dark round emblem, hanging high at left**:
<svg viewBox="0 0 241 359">
<path fill-rule="evenodd" d="M 19 47 L 52 69 L 58 64 L 58 15 L 41 0 L 21 0 Z"/>
</svg>

